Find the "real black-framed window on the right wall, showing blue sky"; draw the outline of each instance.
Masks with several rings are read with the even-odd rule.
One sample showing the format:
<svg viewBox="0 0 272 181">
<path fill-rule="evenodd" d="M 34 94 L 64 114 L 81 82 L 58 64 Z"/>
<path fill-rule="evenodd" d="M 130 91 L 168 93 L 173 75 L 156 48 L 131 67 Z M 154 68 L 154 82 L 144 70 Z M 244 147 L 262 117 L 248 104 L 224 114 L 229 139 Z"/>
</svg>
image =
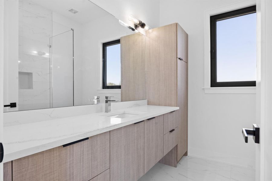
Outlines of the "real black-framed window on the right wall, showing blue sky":
<svg viewBox="0 0 272 181">
<path fill-rule="evenodd" d="M 256 86 L 256 6 L 210 17 L 211 87 Z"/>
</svg>

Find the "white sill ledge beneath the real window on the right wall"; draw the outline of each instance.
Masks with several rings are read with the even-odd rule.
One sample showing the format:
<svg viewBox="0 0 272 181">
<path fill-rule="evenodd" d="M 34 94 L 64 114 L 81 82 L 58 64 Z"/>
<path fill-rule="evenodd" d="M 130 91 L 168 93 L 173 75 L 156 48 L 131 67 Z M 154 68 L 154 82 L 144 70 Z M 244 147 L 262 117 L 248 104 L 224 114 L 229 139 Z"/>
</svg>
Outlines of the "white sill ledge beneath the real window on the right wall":
<svg viewBox="0 0 272 181">
<path fill-rule="evenodd" d="M 256 94 L 256 87 L 203 87 L 205 94 Z"/>
</svg>

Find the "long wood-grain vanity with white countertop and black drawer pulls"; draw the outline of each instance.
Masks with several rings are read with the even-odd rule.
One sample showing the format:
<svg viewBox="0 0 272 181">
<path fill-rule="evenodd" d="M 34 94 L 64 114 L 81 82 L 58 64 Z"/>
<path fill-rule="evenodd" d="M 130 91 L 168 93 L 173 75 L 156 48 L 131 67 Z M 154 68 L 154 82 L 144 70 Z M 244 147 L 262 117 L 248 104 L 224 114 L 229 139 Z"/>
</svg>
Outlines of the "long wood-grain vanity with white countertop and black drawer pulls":
<svg viewBox="0 0 272 181">
<path fill-rule="evenodd" d="M 145 105 L 6 127 L 6 136 L 24 137 L 6 143 L 21 145 L 7 146 L 4 180 L 138 180 L 177 145 L 178 109 Z"/>
</svg>

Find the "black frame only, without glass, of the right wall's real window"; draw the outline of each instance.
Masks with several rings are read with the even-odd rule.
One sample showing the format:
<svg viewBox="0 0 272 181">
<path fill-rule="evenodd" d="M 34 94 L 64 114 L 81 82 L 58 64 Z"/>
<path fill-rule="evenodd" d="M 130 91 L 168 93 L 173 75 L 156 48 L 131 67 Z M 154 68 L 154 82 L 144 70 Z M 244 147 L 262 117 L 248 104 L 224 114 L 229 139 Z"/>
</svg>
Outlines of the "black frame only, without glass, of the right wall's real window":
<svg viewBox="0 0 272 181">
<path fill-rule="evenodd" d="M 256 86 L 256 81 L 230 81 L 217 82 L 216 66 L 216 21 L 229 19 L 232 17 L 243 16 L 246 14 L 256 13 L 256 5 L 229 11 L 222 14 L 210 16 L 210 41 L 211 41 L 211 87 L 248 87 Z"/>
</svg>

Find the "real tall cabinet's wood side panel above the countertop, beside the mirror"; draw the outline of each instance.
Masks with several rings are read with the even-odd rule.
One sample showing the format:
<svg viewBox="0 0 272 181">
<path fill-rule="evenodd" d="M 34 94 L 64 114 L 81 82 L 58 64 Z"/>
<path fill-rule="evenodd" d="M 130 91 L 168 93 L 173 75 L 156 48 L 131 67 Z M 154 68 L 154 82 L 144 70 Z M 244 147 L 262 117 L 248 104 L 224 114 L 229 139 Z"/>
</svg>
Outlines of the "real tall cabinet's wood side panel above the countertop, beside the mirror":
<svg viewBox="0 0 272 181">
<path fill-rule="evenodd" d="M 148 105 L 176 106 L 176 23 L 147 31 L 146 98 Z"/>
</svg>

